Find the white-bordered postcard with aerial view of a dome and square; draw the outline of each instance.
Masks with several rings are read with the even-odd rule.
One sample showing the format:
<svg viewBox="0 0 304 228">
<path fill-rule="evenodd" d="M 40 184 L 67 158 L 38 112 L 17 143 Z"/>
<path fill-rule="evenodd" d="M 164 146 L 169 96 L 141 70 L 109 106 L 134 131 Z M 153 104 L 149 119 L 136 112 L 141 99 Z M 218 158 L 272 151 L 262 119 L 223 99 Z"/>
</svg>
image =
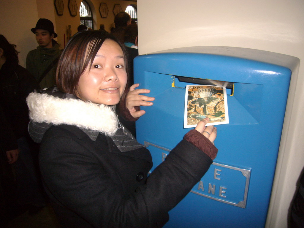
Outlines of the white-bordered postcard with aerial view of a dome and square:
<svg viewBox="0 0 304 228">
<path fill-rule="evenodd" d="M 210 119 L 206 126 L 229 123 L 226 88 L 187 85 L 184 128 L 196 127 L 206 117 Z"/>
</svg>

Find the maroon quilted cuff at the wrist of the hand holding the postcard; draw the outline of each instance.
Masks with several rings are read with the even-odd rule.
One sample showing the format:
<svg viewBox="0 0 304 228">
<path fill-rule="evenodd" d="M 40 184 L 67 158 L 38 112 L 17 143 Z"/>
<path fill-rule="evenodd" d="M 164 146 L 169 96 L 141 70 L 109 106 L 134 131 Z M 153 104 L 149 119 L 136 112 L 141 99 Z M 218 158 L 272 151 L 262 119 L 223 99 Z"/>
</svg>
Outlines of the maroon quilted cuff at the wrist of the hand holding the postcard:
<svg viewBox="0 0 304 228">
<path fill-rule="evenodd" d="M 202 150 L 212 160 L 216 157 L 218 149 L 213 145 L 213 143 L 210 142 L 209 139 L 207 139 L 197 130 L 192 129 L 189 131 L 187 134 L 185 134 L 184 139 Z"/>
</svg>

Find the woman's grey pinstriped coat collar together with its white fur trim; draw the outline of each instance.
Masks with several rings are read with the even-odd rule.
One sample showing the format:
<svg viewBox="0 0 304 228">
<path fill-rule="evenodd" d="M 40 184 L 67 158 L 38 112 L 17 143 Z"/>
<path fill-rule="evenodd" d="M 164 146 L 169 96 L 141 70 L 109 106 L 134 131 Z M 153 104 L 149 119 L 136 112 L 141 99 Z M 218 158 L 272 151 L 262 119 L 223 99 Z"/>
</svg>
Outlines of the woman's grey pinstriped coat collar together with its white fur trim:
<svg viewBox="0 0 304 228">
<path fill-rule="evenodd" d="M 124 128 L 108 105 L 84 102 L 74 95 L 60 92 L 56 87 L 32 92 L 26 98 L 29 106 L 29 133 L 35 142 L 41 142 L 44 133 L 52 125 L 72 125 L 81 129 L 95 141 L 99 133 L 111 137 L 121 152 L 144 146 Z"/>
</svg>

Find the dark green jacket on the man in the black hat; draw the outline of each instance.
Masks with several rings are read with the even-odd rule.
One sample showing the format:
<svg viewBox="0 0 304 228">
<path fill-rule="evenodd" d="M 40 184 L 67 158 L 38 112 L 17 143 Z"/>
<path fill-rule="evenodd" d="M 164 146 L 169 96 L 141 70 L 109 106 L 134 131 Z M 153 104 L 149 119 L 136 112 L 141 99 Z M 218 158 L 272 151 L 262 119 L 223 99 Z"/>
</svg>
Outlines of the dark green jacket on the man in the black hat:
<svg viewBox="0 0 304 228">
<path fill-rule="evenodd" d="M 43 72 L 52 64 L 53 67 L 39 83 L 40 88 L 48 88 L 56 84 L 57 62 L 53 61 L 60 56 L 62 50 L 55 43 L 52 48 L 38 46 L 37 49 L 29 51 L 26 57 L 26 69 L 31 72 L 37 81 L 39 81 Z"/>
</svg>

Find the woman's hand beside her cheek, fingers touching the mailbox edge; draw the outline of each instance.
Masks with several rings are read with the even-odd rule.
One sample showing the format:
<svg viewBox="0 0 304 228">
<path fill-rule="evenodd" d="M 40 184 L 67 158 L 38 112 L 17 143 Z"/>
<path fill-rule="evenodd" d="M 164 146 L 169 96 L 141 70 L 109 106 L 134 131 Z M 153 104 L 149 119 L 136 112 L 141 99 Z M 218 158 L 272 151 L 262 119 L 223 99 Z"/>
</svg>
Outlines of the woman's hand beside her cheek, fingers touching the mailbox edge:
<svg viewBox="0 0 304 228">
<path fill-rule="evenodd" d="M 153 105 L 153 102 L 151 102 L 151 101 L 155 100 L 154 97 L 148 97 L 145 95 L 141 95 L 141 93 L 150 93 L 150 90 L 149 89 L 136 89 L 138 86 L 139 86 L 139 84 L 132 85 L 126 96 L 126 108 L 129 109 L 130 114 L 134 118 L 138 118 L 146 113 L 144 110 L 136 111 L 136 109 L 134 107 L 151 106 L 151 105 Z"/>
</svg>

